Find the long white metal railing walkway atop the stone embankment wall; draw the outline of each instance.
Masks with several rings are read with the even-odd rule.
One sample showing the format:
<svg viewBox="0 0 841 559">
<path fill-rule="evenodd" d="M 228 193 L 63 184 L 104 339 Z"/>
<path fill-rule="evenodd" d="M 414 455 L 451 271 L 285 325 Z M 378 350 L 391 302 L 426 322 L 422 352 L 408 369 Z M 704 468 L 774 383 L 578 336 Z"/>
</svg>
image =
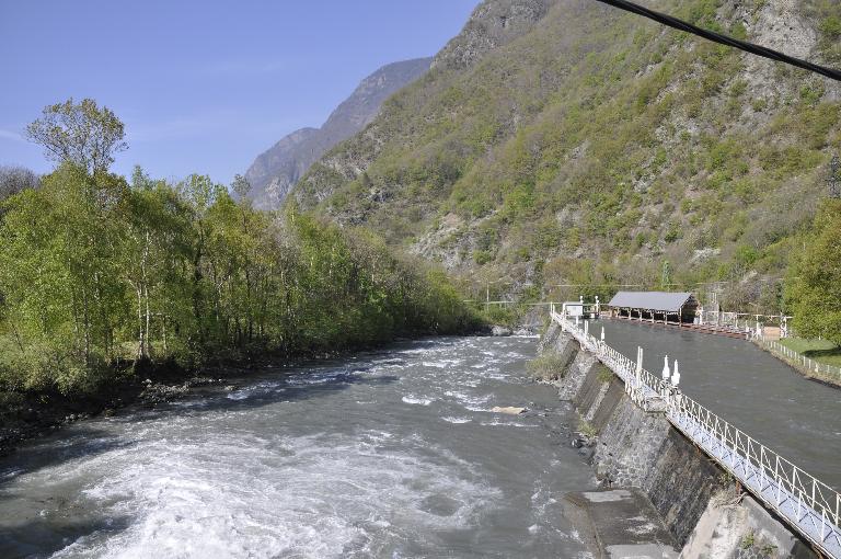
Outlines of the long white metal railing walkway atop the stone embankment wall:
<svg viewBox="0 0 841 559">
<path fill-rule="evenodd" d="M 841 495 L 819 479 L 723 420 L 550 308 L 552 320 L 617 374 L 631 399 L 666 419 L 754 497 L 829 557 L 841 559 Z"/>
</svg>

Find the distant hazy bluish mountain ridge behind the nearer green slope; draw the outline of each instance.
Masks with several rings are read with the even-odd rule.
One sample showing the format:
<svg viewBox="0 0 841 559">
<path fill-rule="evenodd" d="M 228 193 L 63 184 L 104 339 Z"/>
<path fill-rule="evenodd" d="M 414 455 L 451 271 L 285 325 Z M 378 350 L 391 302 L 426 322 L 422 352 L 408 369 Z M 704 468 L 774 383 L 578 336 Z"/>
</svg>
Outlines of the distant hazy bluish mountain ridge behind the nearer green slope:
<svg viewBox="0 0 841 559">
<path fill-rule="evenodd" d="M 431 58 L 416 58 L 383 66 L 365 78 L 321 128 L 295 130 L 260 155 L 245 173 L 255 206 L 276 209 L 314 161 L 365 128 L 382 102 L 427 71 L 429 62 Z"/>
</svg>

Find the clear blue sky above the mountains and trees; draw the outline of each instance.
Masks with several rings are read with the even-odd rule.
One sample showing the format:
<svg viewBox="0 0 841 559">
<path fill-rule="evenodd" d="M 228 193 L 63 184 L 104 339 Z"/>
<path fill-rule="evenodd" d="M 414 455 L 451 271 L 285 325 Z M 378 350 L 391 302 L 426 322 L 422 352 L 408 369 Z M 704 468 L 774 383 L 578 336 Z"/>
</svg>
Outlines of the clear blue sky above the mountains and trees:
<svg viewBox="0 0 841 559">
<path fill-rule="evenodd" d="M 49 171 L 23 129 L 90 96 L 126 124 L 115 171 L 229 183 L 380 66 L 435 54 L 476 3 L 0 0 L 0 164 Z"/>
</svg>

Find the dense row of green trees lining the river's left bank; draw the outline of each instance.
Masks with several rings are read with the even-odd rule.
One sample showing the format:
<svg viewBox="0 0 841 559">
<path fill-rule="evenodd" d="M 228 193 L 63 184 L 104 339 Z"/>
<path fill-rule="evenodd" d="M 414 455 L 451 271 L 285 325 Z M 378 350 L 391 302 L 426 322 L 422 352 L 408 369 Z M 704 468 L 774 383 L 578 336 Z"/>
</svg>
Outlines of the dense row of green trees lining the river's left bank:
<svg viewBox="0 0 841 559">
<path fill-rule="evenodd" d="M 67 162 L 2 207 L 8 389 L 88 391 L 126 362 L 335 351 L 479 321 L 440 271 L 370 232 L 293 208 L 273 220 L 207 176 L 136 169 L 129 184 Z"/>
</svg>

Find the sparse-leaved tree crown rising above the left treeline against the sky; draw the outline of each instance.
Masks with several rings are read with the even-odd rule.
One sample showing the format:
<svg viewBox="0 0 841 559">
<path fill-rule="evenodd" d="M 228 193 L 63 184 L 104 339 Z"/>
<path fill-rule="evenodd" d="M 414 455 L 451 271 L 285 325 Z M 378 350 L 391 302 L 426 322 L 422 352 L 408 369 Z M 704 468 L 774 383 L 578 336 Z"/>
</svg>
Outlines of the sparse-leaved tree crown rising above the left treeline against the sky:
<svg viewBox="0 0 841 559">
<path fill-rule="evenodd" d="M 44 146 L 48 159 L 70 161 L 89 174 L 107 170 L 114 155 L 128 148 L 123 123 L 92 99 L 47 105 L 43 116 L 26 127 L 26 136 Z"/>
</svg>

